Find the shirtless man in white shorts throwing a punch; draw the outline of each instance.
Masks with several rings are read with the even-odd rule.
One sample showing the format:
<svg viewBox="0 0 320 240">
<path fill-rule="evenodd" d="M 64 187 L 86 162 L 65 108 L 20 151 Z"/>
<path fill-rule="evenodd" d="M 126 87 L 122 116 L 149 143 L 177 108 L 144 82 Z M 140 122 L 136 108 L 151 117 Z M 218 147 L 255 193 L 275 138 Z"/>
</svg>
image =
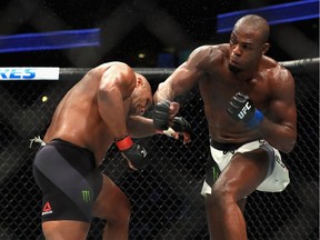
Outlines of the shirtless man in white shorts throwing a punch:
<svg viewBox="0 0 320 240">
<path fill-rule="evenodd" d="M 282 191 L 289 183 L 279 151 L 296 144 L 294 80 L 264 56 L 268 38 L 263 18 L 244 16 L 229 43 L 193 50 L 153 96 L 154 126 L 166 129 L 174 98 L 199 86 L 210 133 L 201 193 L 214 240 L 246 240 L 246 197 L 256 189 Z"/>
</svg>

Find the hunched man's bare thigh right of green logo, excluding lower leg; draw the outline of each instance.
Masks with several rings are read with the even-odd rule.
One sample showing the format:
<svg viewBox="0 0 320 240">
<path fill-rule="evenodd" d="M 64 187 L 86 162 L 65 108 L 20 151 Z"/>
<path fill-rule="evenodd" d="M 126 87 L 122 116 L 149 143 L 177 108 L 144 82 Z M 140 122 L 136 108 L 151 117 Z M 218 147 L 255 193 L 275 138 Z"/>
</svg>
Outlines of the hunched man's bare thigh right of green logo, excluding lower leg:
<svg viewBox="0 0 320 240">
<path fill-rule="evenodd" d="M 93 216 L 107 220 L 128 218 L 130 201 L 114 182 L 103 174 L 101 191 L 93 206 Z"/>
</svg>

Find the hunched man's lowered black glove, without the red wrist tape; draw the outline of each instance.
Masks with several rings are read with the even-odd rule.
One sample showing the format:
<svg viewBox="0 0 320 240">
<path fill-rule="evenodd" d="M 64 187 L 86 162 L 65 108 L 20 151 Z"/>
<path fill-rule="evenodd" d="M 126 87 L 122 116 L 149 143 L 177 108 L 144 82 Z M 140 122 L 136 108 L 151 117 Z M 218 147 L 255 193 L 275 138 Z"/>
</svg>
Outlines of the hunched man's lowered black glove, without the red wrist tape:
<svg viewBox="0 0 320 240">
<path fill-rule="evenodd" d="M 131 168 L 136 170 L 141 170 L 147 166 L 147 151 L 143 147 L 139 144 L 132 144 L 131 148 L 123 150 L 121 152 L 122 157 L 126 158 L 130 163 Z"/>
</svg>

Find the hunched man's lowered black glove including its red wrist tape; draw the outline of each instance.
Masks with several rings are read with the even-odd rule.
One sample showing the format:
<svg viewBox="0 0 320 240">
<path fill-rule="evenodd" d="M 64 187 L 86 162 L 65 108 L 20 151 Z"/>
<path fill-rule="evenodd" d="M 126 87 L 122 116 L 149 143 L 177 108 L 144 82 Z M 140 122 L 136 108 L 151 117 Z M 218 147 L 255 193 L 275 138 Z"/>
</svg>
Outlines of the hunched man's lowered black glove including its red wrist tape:
<svg viewBox="0 0 320 240">
<path fill-rule="evenodd" d="M 140 170 L 147 166 L 146 149 L 139 144 L 134 144 L 130 136 L 127 136 L 121 140 L 116 140 L 116 144 L 123 158 L 130 161 L 134 169 Z"/>
</svg>

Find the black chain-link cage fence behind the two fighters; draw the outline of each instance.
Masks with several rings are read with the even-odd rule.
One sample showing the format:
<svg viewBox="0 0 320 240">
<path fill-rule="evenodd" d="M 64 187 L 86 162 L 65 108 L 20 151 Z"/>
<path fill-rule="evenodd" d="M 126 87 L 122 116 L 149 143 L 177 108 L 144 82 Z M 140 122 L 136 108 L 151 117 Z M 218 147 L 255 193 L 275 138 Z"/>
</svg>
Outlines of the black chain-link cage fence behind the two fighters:
<svg viewBox="0 0 320 240">
<path fill-rule="evenodd" d="M 297 72 L 294 79 L 299 136 L 294 150 L 282 154 L 291 183 L 281 193 L 249 197 L 244 217 L 252 240 L 319 239 L 319 71 Z M 0 82 L 0 240 L 43 239 L 41 193 L 31 168 L 37 149 L 29 139 L 44 134 L 77 80 Z M 149 80 L 154 90 L 159 78 Z M 143 171 L 130 171 L 114 148 L 100 167 L 130 198 L 130 239 L 209 239 L 200 196 L 209 152 L 203 104 L 197 89 L 180 101 L 180 114 L 193 127 L 191 143 L 152 136 L 138 141 L 150 158 Z M 93 219 L 88 239 L 101 239 L 103 224 Z"/>
</svg>

